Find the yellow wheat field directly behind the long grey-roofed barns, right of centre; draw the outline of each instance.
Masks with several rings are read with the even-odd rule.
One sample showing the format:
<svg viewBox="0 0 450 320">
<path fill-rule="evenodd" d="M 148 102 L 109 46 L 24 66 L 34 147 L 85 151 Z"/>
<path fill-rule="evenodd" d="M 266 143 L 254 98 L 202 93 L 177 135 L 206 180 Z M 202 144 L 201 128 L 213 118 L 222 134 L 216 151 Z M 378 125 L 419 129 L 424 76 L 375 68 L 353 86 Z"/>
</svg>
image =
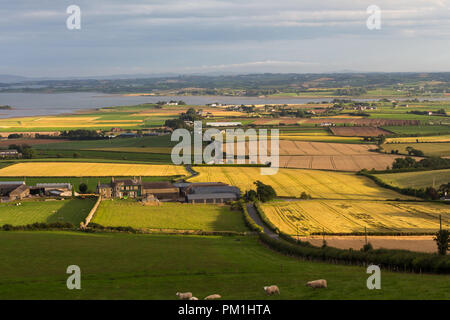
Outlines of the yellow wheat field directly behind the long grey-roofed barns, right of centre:
<svg viewBox="0 0 450 320">
<path fill-rule="evenodd" d="M 199 172 L 191 182 L 224 182 L 241 189 L 255 189 L 260 180 L 279 196 L 299 197 L 302 192 L 321 199 L 405 199 L 410 197 L 378 187 L 372 180 L 347 172 L 279 169 L 275 175 L 261 175 L 257 167 L 194 167 Z M 1 171 L 0 171 L 1 172 Z"/>
</svg>

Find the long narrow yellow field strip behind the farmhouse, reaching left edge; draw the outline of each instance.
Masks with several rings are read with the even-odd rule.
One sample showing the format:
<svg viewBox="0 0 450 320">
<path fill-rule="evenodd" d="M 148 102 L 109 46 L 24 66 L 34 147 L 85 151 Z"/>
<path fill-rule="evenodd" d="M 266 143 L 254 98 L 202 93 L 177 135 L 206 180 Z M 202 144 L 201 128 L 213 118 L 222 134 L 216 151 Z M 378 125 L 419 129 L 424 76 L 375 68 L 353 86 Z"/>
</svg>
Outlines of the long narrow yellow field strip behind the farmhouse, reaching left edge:
<svg viewBox="0 0 450 320">
<path fill-rule="evenodd" d="M 0 169 L 0 177 L 104 177 L 186 175 L 182 166 L 88 162 L 27 162 Z"/>
</svg>

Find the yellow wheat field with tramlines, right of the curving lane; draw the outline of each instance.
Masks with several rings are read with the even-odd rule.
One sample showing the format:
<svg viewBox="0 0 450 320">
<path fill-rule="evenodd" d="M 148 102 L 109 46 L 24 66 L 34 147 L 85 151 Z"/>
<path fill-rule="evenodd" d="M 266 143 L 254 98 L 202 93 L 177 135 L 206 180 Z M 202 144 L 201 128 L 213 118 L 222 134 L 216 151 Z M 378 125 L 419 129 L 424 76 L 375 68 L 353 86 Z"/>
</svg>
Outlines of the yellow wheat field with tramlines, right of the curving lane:
<svg viewBox="0 0 450 320">
<path fill-rule="evenodd" d="M 267 218 L 288 234 L 312 232 L 436 232 L 450 227 L 450 207 L 426 202 L 306 200 L 261 205 Z"/>
</svg>

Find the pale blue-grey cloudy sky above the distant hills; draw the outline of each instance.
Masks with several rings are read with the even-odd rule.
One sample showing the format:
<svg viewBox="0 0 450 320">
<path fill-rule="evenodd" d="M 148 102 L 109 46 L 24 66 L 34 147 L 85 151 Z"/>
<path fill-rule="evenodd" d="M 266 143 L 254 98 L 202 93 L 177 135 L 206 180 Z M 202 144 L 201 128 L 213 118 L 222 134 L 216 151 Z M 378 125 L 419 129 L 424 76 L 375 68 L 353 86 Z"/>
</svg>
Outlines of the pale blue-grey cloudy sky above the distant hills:
<svg viewBox="0 0 450 320">
<path fill-rule="evenodd" d="M 346 71 L 450 71 L 450 0 L 0 0 L 0 74 Z"/>
</svg>

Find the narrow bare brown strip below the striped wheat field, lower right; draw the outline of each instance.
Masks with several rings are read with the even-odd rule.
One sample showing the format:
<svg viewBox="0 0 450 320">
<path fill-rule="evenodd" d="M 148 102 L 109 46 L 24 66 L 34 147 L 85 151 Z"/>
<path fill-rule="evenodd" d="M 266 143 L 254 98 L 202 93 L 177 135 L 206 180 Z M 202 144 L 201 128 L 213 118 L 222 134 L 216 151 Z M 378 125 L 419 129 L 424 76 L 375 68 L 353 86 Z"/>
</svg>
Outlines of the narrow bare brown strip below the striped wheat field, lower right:
<svg viewBox="0 0 450 320">
<path fill-rule="evenodd" d="M 295 238 L 295 237 L 294 237 Z M 315 246 L 321 246 L 322 236 L 300 237 Z M 330 247 L 359 250 L 365 244 L 364 236 L 325 236 Z M 375 249 L 400 249 L 419 252 L 436 252 L 433 236 L 368 236 L 368 241 Z"/>
</svg>

